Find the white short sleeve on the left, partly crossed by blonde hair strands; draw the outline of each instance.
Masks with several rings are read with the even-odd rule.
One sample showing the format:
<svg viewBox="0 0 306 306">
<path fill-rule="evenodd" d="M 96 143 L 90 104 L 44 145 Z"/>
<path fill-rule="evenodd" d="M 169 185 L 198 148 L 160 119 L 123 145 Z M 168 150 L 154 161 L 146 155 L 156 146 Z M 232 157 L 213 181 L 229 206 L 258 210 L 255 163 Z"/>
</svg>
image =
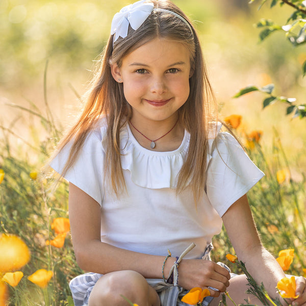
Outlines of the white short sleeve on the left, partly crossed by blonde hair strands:
<svg viewBox="0 0 306 306">
<path fill-rule="evenodd" d="M 71 143 L 68 143 L 50 163 L 50 166 L 59 174 L 62 173 L 67 162 L 70 147 Z M 101 139 L 98 133 L 92 132 L 86 138 L 77 159 L 64 174 L 64 179 L 86 192 L 100 206 L 104 194 L 104 157 Z"/>
</svg>

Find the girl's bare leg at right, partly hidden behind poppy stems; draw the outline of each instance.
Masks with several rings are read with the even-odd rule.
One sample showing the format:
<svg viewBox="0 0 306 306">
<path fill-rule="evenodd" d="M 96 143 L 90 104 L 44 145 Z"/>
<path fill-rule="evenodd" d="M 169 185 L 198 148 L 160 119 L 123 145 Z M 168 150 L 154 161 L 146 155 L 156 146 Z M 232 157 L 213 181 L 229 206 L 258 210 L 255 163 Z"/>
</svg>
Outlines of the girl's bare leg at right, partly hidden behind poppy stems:
<svg viewBox="0 0 306 306">
<path fill-rule="evenodd" d="M 254 295 L 247 294 L 245 291 L 248 289 L 246 276 L 237 275 L 230 279 L 230 286 L 227 287 L 228 294 L 234 300 L 234 302 L 238 305 L 241 303 L 244 304 L 252 304 L 252 305 L 262 305 L 262 302 Z M 246 302 L 244 299 L 247 299 Z M 209 306 L 218 306 L 219 301 L 221 300 L 221 294 L 219 297 L 215 297 Z M 233 302 L 226 296 L 226 303 L 228 306 L 233 306 Z"/>
</svg>

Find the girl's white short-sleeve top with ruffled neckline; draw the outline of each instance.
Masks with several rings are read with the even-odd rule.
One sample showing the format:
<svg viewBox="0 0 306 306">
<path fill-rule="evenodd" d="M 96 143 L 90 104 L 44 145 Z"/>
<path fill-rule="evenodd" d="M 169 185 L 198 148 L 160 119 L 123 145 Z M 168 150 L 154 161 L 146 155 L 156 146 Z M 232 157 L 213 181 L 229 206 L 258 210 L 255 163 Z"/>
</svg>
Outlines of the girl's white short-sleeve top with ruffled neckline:
<svg viewBox="0 0 306 306">
<path fill-rule="evenodd" d="M 134 138 L 129 124 L 120 133 L 121 165 L 127 192 L 119 197 L 105 180 L 106 123 L 87 137 L 65 179 L 101 206 L 101 241 L 137 252 L 173 256 L 192 243 L 186 258 L 201 258 L 218 234 L 222 215 L 262 177 L 236 139 L 212 124 L 207 157 L 206 193 L 194 203 L 191 187 L 176 194 L 176 177 L 187 154 L 190 134 L 185 131 L 179 148 L 151 151 Z M 52 161 L 59 173 L 68 158 L 67 145 Z M 84 203 L 86 206 L 86 203 Z"/>
</svg>

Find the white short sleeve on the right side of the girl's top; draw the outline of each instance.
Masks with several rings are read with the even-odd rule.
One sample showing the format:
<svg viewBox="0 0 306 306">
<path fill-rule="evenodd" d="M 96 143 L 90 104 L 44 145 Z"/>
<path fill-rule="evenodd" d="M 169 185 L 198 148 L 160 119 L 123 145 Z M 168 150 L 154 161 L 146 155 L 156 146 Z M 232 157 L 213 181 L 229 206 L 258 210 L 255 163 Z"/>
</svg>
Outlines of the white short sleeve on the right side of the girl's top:
<svg viewBox="0 0 306 306">
<path fill-rule="evenodd" d="M 264 173 L 250 160 L 230 133 L 218 133 L 211 141 L 206 191 L 212 206 L 222 217 Z"/>
</svg>

